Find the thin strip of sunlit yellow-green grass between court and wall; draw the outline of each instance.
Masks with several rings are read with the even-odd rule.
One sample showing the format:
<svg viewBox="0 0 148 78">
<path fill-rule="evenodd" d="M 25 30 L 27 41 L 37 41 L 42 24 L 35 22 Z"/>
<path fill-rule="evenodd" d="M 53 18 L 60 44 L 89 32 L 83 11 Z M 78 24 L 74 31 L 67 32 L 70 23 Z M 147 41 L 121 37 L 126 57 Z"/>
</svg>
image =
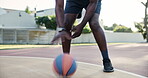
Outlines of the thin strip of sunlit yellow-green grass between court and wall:
<svg viewBox="0 0 148 78">
<path fill-rule="evenodd" d="M 127 44 L 127 43 L 108 43 L 108 45 L 112 44 Z M 96 43 L 80 43 L 80 44 L 72 44 L 72 46 L 85 46 L 85 45 L 97 45 Z M 25 49 L 25 48 L 47 48 L 47 47 L 58 47 L 61 45 L 0 45 L 0 50 L 7 50 L 7 49 Z"/>
</svg>

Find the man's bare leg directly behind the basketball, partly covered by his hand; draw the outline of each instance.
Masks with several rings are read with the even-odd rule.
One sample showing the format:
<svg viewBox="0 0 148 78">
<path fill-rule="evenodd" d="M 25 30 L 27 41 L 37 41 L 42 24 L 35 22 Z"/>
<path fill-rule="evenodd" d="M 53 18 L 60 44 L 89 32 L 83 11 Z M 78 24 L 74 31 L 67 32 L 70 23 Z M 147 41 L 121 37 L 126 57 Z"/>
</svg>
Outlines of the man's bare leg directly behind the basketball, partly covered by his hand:
<svg viewBox="0 0 148 78">
<path fill-rule="evenodd" d="M 64 15 L 64 24 L 65 24 L 65 28 L 66 31 L 71 35 L 71 28 L 74 24 L 74 21 L 76 20 L 77 14 L 65 14 Z M 70 53 L 70 44 L 71 44 L 71 40 L 67 40 L 65 39 L 65 42 L 62 42 L 62 48 L 63 48 L 63 52 L 64 53 Z"/>
</svg>

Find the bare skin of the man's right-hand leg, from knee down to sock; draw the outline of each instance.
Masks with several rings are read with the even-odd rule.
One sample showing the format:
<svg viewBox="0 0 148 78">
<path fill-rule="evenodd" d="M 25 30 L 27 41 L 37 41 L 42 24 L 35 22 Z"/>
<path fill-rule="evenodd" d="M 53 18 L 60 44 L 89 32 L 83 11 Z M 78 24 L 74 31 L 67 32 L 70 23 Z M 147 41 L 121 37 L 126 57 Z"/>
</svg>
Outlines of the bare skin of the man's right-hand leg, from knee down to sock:
<svg viewBox="0 0 148 78">
<path fill-rule="evenodd" d="M 95 13 L 94 16 L 91 18 L 91 20 L 89 21 L 89 24 L 101 52 L 104 52 L 107 51 L 106 39 L 104 32 L 99 25 L 98 18 L 99 14 Z M 103 59 L 104 58 L 108 59 L 109 57 L 108 55 L 106 55 L 106 57 L 103 57 Z"/>
</svg>

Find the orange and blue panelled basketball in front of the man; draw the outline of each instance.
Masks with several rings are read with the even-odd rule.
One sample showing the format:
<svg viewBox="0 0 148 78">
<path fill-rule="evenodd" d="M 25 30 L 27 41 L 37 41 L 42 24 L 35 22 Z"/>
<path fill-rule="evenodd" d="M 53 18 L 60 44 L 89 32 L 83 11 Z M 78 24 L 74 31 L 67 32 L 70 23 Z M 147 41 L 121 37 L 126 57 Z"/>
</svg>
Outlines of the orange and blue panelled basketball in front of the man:
<svg viewBox="0 0 148 78">
<path fill-rule="evenodd" d="M 76 61 L 69 54 L 60 54 L 53 62 L 53 70 L 60 76 L 72 76 L 76 69 Z"/>
</svg>

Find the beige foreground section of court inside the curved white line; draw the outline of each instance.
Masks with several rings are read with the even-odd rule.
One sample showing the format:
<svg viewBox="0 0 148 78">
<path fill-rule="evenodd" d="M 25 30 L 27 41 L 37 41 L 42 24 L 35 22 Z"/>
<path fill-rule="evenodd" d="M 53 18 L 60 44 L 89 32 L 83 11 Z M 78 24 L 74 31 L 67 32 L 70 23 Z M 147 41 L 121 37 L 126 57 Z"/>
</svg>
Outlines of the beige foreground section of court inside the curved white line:
<svg viewBox="0 0 148 78">
<path fill-rule="evenodd" d="M 59 78 L 52 71 L 51 58 L 1 56 L 1 78 Z M 78 68 L 72 78 L 144 78 L 133 73 L 115 70 L 104 73 L 102 67 L 77 62 Z"/>
</svg>

